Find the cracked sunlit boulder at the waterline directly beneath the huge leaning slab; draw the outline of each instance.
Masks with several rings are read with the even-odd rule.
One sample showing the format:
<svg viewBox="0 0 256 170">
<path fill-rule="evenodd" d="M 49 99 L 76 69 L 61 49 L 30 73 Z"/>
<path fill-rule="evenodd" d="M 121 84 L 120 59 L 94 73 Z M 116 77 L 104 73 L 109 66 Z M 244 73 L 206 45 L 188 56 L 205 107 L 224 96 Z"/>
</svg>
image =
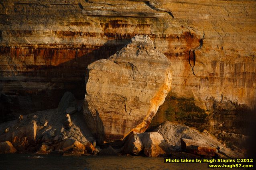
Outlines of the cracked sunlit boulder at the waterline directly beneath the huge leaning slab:
<svg viewBox="0 0 256 170">
<path fill-rule="evenodd" d="M 138 155 L 143 151 L 148 157 L 166 156 L 170 146 L 158 132 L 134 134 L 131 132 L 125 140 L 123 153 Z"/>
</svg>

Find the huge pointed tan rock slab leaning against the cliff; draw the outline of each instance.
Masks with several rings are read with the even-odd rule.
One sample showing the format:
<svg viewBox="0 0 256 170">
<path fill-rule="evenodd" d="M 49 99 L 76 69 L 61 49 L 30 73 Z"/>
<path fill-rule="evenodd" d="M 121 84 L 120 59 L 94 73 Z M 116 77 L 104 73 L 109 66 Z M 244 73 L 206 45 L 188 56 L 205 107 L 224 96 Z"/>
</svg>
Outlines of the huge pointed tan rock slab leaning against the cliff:
<svg viewBox="0 0 256 170">
<path fill-rule="evenodd" d="M 171 90 L 171 64 L 148 36 L 135 36 L 87 69 L 83 109 L 99 143 L 144 132 Z"/>
</svg>

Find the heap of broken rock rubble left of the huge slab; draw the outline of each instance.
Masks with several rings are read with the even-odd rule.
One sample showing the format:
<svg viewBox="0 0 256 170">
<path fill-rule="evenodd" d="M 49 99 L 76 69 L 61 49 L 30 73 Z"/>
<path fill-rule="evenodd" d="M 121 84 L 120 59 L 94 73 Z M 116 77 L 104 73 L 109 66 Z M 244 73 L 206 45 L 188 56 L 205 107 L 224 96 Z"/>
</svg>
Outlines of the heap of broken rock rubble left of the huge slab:
<svg viewBox="0 0 256 170">
<path fill-rule="evenodd" d="M 82 112 L 65 114 L 66 107 L 75 104 L 73 94 L 67 92 L 59 104 L 63 109 L 38 111 L 24 115 L 22 120 L 0 124 L 2 146 L 5 146 L 7 151 L 10 150 L 9 146 L 12 146 L 15 152 L 17 150 L 38 154 L 82 155 L 86 148 L 93 152 L 93 136 L 84 124 Z M 3 143 L 5 141 L 9 141 L 10 145 Z"/>
</svg>

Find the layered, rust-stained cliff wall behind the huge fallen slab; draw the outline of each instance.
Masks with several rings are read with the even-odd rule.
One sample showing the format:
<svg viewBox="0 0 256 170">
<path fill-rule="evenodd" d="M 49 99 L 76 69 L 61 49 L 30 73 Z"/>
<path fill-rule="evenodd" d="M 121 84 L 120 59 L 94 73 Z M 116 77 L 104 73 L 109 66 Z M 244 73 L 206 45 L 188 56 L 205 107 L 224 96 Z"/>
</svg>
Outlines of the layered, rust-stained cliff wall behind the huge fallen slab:
<svg viewBox="0 0 256 170">
<path fill-rule="evenodd" d="M 173 67 L 152 124 L 238 132 L 255 104 L 255 8 L 253 0 L 4 0 L 1 121 L 54 108 L 67 90 L 84 98 L 87 65 L 147 34 Z"/>
</svg>

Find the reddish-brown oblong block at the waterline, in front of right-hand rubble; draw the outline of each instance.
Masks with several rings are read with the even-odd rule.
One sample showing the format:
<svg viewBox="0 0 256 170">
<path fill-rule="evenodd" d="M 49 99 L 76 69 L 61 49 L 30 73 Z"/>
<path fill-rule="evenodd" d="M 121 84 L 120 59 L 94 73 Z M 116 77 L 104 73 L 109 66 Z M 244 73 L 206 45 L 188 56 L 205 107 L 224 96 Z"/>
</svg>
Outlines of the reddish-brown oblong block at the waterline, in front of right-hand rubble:
<svg viewBox="0 0 256 170">
<path fill-rule="evenodd" d="M 217 149 L 195 140 L 181 138 L 181 148 L 191 154 L 215 156 Z"/>
</svg>

